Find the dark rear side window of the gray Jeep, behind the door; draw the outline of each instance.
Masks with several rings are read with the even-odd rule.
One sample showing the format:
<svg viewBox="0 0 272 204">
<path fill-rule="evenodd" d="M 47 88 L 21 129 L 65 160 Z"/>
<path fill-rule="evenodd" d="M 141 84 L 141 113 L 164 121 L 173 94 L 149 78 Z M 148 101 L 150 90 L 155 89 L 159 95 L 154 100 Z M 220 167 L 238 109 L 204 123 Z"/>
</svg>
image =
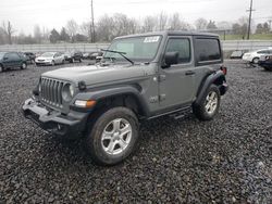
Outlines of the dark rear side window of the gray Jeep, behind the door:
<svg viewBox="0 0 272 204">
<path fill-rule="evenodd" d="M 195 52 L 199 65 L 218 63 L 222 60 L 219 39 L 196 38 Z"/>
</svg>

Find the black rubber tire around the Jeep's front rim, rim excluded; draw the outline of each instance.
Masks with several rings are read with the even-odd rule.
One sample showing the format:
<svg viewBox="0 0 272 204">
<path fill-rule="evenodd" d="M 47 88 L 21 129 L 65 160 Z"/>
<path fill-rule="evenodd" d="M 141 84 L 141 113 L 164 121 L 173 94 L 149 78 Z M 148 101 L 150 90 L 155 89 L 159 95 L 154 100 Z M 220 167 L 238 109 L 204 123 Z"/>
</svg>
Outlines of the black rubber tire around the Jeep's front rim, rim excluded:
<svg viewBox="0 0 272 204">
<path fill-rule="evenodd" d="M 126 107 L 112 107 L 96 114 L 95 118 L 88 123 L 89 130 L 86 137 L 86 148 L 92 161 L 102 166 L 111 166 L 121 163 L 135 150 L 138 140 L 138 119 L 133 111 Z M 103 149 L 102 133 L 114 119 L 124 118 L 132 128 L 131 140 L 127 146 L 118 155 L 109 154 Z"/>
</svg>

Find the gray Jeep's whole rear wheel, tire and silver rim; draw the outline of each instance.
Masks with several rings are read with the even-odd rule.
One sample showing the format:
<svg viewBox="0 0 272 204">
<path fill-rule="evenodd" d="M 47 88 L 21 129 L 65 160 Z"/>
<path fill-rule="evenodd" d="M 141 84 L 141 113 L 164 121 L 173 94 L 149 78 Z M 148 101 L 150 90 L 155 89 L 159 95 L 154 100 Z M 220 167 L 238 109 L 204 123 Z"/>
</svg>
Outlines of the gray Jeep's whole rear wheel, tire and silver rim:
<svg viewBox="0 0 272 204">
<path fill-rule="evenodd" d="M 211 120 L 220 107 L 220 91 L 215 85 L 211 85 L 207 90 L 200 104 L 193 105 L 193 112 L 201 120 Z"/>
</svg>

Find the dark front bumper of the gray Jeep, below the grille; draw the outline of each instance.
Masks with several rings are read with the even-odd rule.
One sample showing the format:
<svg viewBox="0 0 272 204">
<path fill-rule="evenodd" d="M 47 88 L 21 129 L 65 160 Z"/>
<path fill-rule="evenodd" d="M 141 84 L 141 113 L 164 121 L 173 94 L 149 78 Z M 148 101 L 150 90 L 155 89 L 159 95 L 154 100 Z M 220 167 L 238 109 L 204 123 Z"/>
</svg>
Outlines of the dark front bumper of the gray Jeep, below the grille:
<svg viewBox="0 0 272 204">
<path fill-rule="evenodd" d="M 23 104 L 23 114 L 42 129 L 70 138 L 79 137 L 86 128 L 89 113 L 74 112 L 64 115 L 61 112 L 49 110 L 34 99 Z"/>
</svg>

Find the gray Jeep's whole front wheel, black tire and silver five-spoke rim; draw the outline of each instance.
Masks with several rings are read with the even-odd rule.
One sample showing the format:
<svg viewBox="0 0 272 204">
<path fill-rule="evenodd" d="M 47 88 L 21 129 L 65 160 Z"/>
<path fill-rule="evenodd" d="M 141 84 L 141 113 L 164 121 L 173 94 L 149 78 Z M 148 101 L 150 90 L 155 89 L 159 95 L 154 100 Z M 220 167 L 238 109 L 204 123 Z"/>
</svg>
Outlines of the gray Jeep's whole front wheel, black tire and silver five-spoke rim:
<svg viewBox="0 0 272 204">
<path fill-rule="evenodd" d="M 101 113 L 89 128 L 87 150 L 99 165 L 122 162 L 131 155 L 138 140 L 138 119 L 126 107 L 113 107 Z"/>
</svg>

